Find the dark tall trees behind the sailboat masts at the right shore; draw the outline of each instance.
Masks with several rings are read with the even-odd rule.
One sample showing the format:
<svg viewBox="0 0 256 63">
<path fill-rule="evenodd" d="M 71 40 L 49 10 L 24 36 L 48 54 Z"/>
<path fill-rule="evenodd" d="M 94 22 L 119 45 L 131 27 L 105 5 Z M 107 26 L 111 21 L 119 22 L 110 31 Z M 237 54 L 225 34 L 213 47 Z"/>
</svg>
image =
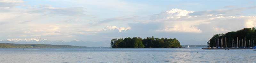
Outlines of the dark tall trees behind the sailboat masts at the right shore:
<svg viewBox="0 0 256 63">
<path fill-rule="evenodd" d="M 256 46 L 256 29 L 244 28 L 236 32 L 228 32 L 226 34 L 215 34 L 210 39 L 211 47 L 254 47 Z"/>
</svg>

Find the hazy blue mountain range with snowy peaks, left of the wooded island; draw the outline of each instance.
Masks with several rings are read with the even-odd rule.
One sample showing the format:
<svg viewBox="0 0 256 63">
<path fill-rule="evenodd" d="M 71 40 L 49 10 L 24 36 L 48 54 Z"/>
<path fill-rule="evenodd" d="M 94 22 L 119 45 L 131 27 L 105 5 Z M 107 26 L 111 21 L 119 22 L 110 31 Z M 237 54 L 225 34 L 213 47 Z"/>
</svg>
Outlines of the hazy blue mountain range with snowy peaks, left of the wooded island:
<svg viewBox="0 0 256 63">
<path fill-rule="evenodd" d="M 109 47 L 109 41 L 90 42 L 74 39 L 66 42 L 63 40 L 50 41 L 44 38 L 30 38 L 30 39 L 6 39 L 0 40 L 0 43 L 14 43 L 14 44 L 51 44 L 51 45 L 71 45 L 71 46 L 89 46 L 89 47 Z"/>
</svg>

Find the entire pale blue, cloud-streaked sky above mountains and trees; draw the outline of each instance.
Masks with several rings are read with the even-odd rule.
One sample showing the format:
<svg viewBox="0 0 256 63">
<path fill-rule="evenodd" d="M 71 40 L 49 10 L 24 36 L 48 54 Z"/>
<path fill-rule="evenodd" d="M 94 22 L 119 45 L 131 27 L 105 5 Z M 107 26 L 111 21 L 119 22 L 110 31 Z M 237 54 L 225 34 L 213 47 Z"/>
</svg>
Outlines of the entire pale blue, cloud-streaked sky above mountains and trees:
<svg viewBox="0 0 256 63">
<path fill-rule="evenodd" d="M 0 0 L 0 40 L 176 38 L 206 45 L 256 27 L 256 0 Z"/>
</svg>

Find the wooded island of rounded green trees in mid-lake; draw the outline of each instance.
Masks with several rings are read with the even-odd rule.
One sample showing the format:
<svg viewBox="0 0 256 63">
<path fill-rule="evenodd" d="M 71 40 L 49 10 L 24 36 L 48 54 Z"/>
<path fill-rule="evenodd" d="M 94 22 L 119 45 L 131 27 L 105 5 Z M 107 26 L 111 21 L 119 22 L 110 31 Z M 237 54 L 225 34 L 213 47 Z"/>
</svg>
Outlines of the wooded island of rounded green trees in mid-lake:
<svg viewBox="0 0 256 63">
<path fill-rule="evenodd" d="M 154 38 L 147 37 L 142 38 L 120 38 L 111 40 L 112 48 L 179 48 L 181 47 L 180 42 L 177 39 L 167 39 L 167 38 Z"/>
</svg>

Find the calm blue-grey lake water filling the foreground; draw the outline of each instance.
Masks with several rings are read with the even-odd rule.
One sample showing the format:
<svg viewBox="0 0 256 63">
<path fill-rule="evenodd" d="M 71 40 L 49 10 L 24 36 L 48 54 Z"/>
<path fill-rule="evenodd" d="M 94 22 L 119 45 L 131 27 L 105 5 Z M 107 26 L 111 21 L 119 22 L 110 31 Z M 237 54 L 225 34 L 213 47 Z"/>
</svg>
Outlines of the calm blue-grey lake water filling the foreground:
<svg viewBox="0 0 256 63">
<path fill-rule="evenodd" d="M 201 48 L 0 48 L 0 63 L 256 63 L 256 51 Z"/>
</svg>

